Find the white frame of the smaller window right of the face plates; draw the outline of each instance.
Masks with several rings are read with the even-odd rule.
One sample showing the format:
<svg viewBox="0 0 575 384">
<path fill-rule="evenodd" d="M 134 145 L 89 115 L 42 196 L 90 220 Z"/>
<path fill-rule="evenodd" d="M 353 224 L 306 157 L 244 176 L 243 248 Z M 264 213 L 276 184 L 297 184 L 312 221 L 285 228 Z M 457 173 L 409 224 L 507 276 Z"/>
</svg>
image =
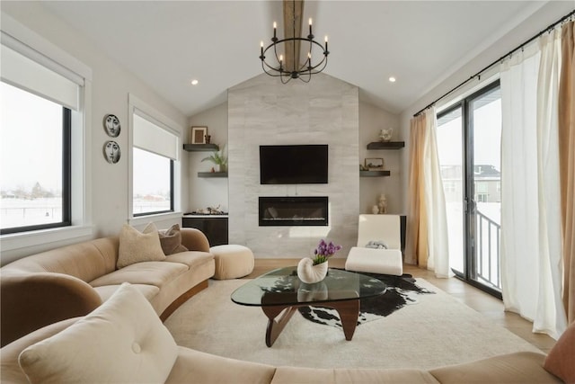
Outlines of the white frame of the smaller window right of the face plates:
<svg viewBox="0 0 575 384">
<path fill-rule="evenodd" d="M 150 221 L 181 219 L 181 150 L 176 151 L 177 158 L 173 160 L 173 212 L 162 212 L 150 215 L 134 216 L 134 113 L 144 112 L 146 119 L 158 127 L 165 129 L 177 138 L 177 146 L 181 147 L 181 132 L 179 124 L 143 102 L 134 94 L 128 94 L 128 223 L 132 226 L 145 225 Z M 141 113 L 138 113 L 141 116 Z"/>
</svg>

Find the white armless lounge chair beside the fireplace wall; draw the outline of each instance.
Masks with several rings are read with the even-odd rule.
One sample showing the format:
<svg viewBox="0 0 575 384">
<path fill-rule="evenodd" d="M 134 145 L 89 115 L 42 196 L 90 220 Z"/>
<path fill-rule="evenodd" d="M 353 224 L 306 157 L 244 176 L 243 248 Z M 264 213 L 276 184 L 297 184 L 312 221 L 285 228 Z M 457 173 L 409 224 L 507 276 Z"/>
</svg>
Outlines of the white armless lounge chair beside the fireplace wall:
<svg viewBox="0 0 575 384">
<path fill-rule="evenodd" d="M 385 244 L 385 248 L 375 247 Z M 403 274 L 399 215 L 359 215 L 358 246 L 349 250 L 345 269 L 355 272 Z"/>
</svg>

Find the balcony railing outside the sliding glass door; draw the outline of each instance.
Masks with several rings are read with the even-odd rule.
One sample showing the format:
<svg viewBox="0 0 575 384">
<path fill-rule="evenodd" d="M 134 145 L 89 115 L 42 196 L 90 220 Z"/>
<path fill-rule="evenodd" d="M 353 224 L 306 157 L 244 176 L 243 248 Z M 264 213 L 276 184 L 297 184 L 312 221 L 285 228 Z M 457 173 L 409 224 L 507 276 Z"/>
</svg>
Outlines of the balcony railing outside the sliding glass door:
<svg viewBox="0 0 575 384">
<path fill-rule="evenodd" d="M 501 226 L 479 210 L 477 216 L 477 278 L 501 290 Z"/>
</svg>

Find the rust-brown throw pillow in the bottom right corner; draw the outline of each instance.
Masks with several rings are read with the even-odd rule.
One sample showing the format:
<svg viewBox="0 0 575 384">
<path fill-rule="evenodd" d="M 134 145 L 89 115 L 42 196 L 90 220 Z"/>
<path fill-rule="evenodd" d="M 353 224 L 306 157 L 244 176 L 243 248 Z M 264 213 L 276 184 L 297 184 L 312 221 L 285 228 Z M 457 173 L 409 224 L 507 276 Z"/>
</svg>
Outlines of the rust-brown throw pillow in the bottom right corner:
<svg viewBox="0 0 575 384">
<path fill-rule="evenodd" d="M 567 327 L 553 345 L 543 366 L 566 383 L 575 383 L 575 322 Z"/>
</svg>

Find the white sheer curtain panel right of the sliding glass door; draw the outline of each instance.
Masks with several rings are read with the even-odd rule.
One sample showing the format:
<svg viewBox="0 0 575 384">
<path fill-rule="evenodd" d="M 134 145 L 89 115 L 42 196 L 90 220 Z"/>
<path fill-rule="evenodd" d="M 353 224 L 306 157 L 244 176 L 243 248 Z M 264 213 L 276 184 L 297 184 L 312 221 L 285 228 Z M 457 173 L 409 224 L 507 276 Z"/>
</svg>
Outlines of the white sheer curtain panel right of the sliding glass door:
<svg viewBox="0 0 575 384">
<path fill-rule="evenodd" d="M 501 282 L 506 310 L 557 338 L 562 239 L 558 159 L 556 33 L 501 67 Z"/>
</svg>

